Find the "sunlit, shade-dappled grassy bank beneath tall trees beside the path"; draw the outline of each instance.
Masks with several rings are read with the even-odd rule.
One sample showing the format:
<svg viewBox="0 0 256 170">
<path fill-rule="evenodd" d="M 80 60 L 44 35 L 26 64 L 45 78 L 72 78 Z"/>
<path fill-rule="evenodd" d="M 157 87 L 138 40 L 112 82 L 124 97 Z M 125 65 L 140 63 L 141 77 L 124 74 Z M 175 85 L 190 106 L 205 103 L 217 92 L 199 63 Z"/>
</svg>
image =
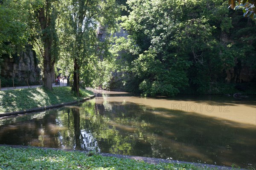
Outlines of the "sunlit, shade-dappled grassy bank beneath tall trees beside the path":
<svg viewBox="0 0 256 170">
<path fill-rule="evenodd" d="M 79 101 L 93 95 L 93 92 L 81 89 L 80 97 L 72 94 L 71 87 L 15 89 L 0 91 L 0 113 L 15 112 L 37 107 L 46 107 L 70 101 Z"/>
</svg>

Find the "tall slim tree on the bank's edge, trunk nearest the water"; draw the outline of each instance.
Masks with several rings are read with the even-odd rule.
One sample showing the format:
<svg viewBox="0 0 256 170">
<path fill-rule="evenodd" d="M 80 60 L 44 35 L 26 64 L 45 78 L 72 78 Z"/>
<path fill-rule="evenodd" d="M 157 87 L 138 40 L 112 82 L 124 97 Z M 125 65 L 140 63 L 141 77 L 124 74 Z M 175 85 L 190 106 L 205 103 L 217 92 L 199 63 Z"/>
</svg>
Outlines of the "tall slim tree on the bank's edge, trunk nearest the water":
<svg viewBox="0 0 256 170">
<path fill-rule="evenodd" d="M 103 74 L 106 68 L 102 68 L 102 64 L 107 60 L 103 61 L 103 58 L 110 55 L 108 46 L 116 27 L 119 7 L 115 0 L 88 0 L 86 3 L 84 0 L 73 0 L 62 4 L 69 10 L 61 14 L 59 33 L 64 43 L 61 53 L 66 56 L 64 60 L 73 61 L 73 67 L 67 71 L 73 73 L 72 89 L 77 91 L 80 81 L 82 86 L 107 86 L 105 78 L 99 81 L 99 74 L 106 77 Z M 103 32 L 103 40 L 100 40 L 97 31 Z M 94 78 L 96 82 L 93 82 Z"/>
</svg>

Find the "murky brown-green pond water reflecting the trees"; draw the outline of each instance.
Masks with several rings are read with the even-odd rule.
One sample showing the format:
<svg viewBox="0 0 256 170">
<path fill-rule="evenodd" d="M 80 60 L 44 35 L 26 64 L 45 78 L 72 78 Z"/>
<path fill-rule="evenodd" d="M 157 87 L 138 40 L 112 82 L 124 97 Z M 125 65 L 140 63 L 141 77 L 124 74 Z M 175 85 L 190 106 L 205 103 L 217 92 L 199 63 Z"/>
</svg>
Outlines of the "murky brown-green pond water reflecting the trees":
<svg viewBox="0 0 256 170">
<path fill-rule="evenodd" d="M 95 92 L 74 106 L 0 118 L 0 144 L 256 167 L 256 96 Z"/>
</svg>

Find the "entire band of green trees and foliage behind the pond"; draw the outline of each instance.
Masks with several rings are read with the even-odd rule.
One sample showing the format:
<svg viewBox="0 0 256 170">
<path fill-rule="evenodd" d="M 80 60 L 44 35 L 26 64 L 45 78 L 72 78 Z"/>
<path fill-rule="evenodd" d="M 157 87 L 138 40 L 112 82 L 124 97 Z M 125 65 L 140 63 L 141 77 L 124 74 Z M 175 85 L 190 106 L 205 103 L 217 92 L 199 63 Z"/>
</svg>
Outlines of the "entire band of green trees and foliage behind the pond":
<svg viewBox="0 0 256 170">
<path fill-rule="evenodd" d="M 235 2 L 1 0 L 0 63 L 18 60 L 31 44 L 44 86 L 66 75 L 78 96 L 80 86 L 151 96 L 255 94 L 255 6 Z"/>
</svg>

